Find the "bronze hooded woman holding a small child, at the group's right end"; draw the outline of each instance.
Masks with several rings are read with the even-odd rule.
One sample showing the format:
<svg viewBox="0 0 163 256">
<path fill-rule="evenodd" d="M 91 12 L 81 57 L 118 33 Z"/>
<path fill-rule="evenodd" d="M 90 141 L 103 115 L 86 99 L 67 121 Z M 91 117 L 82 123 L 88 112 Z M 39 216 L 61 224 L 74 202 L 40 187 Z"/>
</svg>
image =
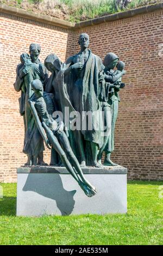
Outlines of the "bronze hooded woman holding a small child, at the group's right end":
<svg viewBox="0 0 163 256">
<path fill-rule="evenodd" d="M 104 136 L 103 147 L 99 150 L 98 161 L 101 163 L 103 152 L 105 152 L 104 165 L 115 166 L 116 163 L 110 159 L 111 152 L 114 151 L 115 123 L 118 115 L 118 105 L 120 102 L 119 91 L 124 88 L 122 76 L 126 74 L 124 62 L 119 61 L 115 53 L 108 53 L 104 58 L 105 86 L 101 88 L 102 110 L 104 111 L 105 127 L 110 127 L 110 133 Z M 114 68 L 117 70 L 114 70 Z M 111 118 L 110 118 L 111 115 Z"/>
</svg>

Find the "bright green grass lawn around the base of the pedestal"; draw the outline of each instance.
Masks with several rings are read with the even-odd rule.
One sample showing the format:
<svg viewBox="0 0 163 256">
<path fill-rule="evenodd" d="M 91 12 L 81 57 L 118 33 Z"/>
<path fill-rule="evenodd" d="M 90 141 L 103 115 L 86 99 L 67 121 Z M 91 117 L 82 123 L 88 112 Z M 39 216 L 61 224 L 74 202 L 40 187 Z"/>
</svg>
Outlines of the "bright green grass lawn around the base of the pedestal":
<svg viewBox="0 0 163 256">
<path fill-rule="evenodd" d="M 128 182 L 128 214 L 16 217 L 16 184 L 1 184 L 1 245 L 162 245 L 156 181 Z M 160 193 L 161 195 L 161 193 Z"/>
</svg>

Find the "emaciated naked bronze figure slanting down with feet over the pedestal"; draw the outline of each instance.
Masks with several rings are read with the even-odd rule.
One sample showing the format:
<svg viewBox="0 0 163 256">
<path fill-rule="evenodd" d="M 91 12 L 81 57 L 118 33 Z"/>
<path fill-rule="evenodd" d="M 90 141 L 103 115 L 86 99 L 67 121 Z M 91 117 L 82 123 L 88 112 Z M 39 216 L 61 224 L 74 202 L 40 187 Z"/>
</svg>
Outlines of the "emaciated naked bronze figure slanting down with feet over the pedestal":
<svg viewBox="0 0 163 256">
<path fill-rule="evenodd" d="M 58 121 L 52 118 L 53 111 L 51 108 L 55 105 L 55 102 L 53 105 L 51 96 L 48 96 L 48 93 L 43 93 L 43 86 L 40 80 L 32 81 L 31 86 L 34 94 L 30 97 L 28 102 L 37 128 L 39 129 L 46 146 L 51 149 L 49 146 L 52 145 L 59 154 L 62 163 L 78 182 L 86 196 L 92 197 L 97 192 L 96 188 L 92 186 L 83 175 L 80 164 L 73 154 L 66 133 L 64 132 L 64 123 L 60 118 Z"/>
</svg>

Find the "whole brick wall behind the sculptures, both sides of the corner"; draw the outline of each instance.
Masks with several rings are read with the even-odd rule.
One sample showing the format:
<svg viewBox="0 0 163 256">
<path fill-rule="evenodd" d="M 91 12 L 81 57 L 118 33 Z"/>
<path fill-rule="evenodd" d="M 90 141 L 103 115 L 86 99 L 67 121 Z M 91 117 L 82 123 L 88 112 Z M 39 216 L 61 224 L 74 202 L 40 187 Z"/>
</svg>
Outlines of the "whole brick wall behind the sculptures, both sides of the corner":
<svg viewBox="0 0 163 256">
<path fill-rule="evenodd" d="M 112 159 L 128 168 L 129 179 L 163 178 L 162 17 L 158 10 L 71 31 L 0 14 L 0 181 L 16 181 L 16 167 L 26 162 L 20 94 L 13 87 L 20 54 L 28 52 L 31 42 L 37 42 L 42 47 L 40 60 L 54 52 L 64 61 L 78 52 L 82 32 L 90 35 L 93 53 L 103 59 L 112 51 L 126 62 L 126 88 L 120 93 Z M 47 150 L 45 161 L 49 162 Z"/>
</svg>

